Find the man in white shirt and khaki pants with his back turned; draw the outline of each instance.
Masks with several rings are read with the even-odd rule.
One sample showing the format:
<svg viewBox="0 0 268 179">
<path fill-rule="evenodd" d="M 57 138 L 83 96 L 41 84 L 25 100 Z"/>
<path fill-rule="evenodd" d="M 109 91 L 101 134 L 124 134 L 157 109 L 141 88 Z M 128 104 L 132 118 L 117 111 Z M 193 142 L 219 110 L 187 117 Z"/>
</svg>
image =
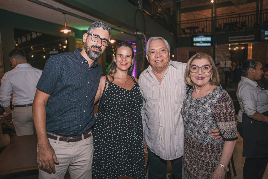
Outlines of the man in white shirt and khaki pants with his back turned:
<svg viewBox="0 0 268 179">
<path fill-rule="evenodd" d="M 8 56 L 13 70 L 6 72 L 1 79 L 0 104 L 5 110 L 3 114 L 12 113 L 17 136 L 33 134 L 32 102 L 42 70 L 27 63 L 23 50 L 14 49 Z M 10 109 L 11 94 L 13 111 Z"/>
</svg>

